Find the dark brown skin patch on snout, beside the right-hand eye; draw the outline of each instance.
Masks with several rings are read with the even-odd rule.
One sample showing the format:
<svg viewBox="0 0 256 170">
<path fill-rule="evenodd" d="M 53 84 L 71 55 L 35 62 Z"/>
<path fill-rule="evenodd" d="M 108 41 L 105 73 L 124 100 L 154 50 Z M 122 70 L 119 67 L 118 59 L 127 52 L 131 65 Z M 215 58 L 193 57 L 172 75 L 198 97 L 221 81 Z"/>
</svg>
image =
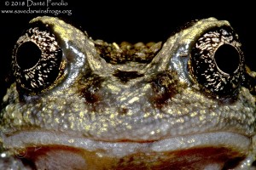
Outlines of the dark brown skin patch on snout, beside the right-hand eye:
<svg viewBox="0 0 256 170">
<path fill-rule="evenodd" d="M 162 107 L 168 99 L 177 94 L 181 88 L 178 84 L 177 72 L 166 71 L 157 74 L 151 82 L 153 94 L 150 97 L 151 102 L 157 107 Z"/>
</svg>

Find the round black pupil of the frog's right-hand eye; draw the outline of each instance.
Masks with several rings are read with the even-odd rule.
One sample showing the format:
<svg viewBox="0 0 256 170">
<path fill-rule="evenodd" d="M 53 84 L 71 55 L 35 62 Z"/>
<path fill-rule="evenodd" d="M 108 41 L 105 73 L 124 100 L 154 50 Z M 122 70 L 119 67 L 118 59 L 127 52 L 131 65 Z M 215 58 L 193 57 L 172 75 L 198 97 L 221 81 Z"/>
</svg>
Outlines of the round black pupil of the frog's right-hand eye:
<svg viewBox="0 0 256 170">
<path fill-rule="evenodd" d="M 228 74 L 232 74 L 236 71 L 240 62 L 236 48 L 229 44 L 220 46 L 214 55 L 214 59 L 218 68 Z"/>
</svg>

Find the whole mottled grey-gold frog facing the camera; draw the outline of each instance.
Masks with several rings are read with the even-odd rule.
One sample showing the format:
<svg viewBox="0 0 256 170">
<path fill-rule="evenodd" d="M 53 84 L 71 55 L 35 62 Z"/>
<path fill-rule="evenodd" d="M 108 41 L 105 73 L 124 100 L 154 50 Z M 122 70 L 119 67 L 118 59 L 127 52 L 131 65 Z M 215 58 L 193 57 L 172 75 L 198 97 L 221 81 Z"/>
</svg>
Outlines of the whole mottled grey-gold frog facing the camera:
<svg viewBox="0 0 256 170">
<path fill-rule="evenodd" d="M 117 44 L 38 16 L 15 44 L 11 72 L 3 168 L 256 168 L 256 72 L 227 20 Z"/>
</svg>

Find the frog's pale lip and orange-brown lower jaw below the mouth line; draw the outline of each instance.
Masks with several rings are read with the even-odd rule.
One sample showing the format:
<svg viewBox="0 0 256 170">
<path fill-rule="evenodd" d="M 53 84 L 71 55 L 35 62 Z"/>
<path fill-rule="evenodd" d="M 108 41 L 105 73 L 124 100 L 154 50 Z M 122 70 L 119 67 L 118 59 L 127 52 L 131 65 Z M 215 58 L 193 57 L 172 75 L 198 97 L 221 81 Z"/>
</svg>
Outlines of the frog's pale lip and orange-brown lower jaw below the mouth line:
<svg viewBox="0 0 256 170">
<path fill-rule="evenodd" d="M 16 156 L 25 164 L 46 169 L 230 169 L 247 157 L 252 141 L 247 136 L 227 132 L 150 142 L 105 142 L 65 133 L 20 132 L 3 137 L 3 142 L 15 149 Z"/>
</svg>

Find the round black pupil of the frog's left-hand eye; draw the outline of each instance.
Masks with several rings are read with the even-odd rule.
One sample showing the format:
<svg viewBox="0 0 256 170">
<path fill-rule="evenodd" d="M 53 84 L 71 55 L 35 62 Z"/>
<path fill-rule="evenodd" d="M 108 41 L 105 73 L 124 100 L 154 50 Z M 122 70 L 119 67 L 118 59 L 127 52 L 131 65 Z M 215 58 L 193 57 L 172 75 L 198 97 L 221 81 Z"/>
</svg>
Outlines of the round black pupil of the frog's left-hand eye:
<svg viewBox="0 0 256 170">
<path fill-rule="evenodd" d="M 41 50 L 34 42 L 24 42 L 17 50 L 17 64 L 22 70 L 30 69 L 41 58 Z"/>
</svg>

